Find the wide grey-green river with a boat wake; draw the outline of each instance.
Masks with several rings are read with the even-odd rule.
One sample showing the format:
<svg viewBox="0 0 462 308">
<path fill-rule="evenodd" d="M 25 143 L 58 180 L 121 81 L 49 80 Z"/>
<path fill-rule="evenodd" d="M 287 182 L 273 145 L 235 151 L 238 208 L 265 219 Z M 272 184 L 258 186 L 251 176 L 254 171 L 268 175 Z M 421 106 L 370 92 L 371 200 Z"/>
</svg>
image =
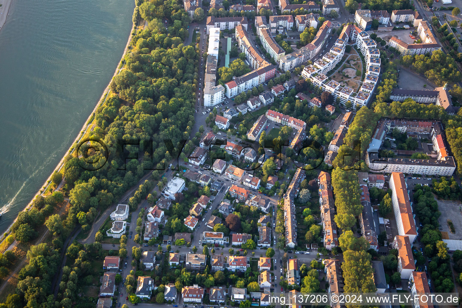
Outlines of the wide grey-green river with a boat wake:
<svg viewBox="0 0 462 308">
<path fill-rule="evenodd" d="M 133 0 L 14 0 L 0 31 L 0 234 L 61 160 L 108 85 Z"/>
</svg>

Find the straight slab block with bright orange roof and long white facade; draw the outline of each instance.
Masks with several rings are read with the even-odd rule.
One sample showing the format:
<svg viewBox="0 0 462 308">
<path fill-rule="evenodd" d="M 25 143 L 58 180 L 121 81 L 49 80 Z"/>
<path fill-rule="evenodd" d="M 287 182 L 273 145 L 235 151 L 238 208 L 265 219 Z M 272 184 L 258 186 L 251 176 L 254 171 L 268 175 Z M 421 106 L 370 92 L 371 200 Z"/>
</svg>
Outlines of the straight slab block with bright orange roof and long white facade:
<svg viewBox="0 0 462 308">
<path fill-rule="evenodd" d="M 403 173 L 393 172 L 390 176 L 389 188 L 391 189 L 391 201 L 393 203 L 398 234 L 400 236 L 408 236 L 409 241 L 412 243 L 417 237 L 417 229 L 404 179 Z"/>
</svg>

